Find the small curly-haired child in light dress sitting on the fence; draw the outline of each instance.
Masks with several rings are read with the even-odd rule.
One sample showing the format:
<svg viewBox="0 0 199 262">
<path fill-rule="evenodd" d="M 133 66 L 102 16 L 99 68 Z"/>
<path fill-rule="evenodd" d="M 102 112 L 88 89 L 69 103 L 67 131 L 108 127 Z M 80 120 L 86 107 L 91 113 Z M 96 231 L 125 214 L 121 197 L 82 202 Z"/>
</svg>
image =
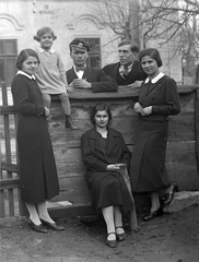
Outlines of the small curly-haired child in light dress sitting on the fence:
<svg viewBox="0 0 199 262">
<path fill-rule="evenodd" d="M 38 85 L 43 93 L 44 105 L 50 108 L 51 95 L 57 95 L 61 100 L 61 107 L 66 117 L 66 128 L 78 129 L 71 119 L 71 108 L 68 93 L 72 88 L 68 86 L 62 60 L 52 48 L 57 38 L 49 27 L 42 27 L 37 31 L 34 39 L 40 44 L 36 49 L 40 64 L 36 73 Z"/>
</svg>

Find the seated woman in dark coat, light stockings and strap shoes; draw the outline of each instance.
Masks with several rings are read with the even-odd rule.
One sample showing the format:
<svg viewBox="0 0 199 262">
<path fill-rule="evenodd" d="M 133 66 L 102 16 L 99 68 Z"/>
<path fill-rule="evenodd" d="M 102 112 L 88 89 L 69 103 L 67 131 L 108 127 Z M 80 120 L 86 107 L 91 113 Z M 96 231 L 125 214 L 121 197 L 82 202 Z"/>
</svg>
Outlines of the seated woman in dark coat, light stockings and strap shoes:
<svg viewBox="0 0 199 262">
<path fill-rule="evenodd" d="M 107 246 L 115 248 L 117 240 L 126 238 L 121 212 L 132 211 L 133 202 L 120 175 L 120 165 L 129 167 L 131 153 L 121 134 L 108 127 L 110 120 L 109 107 L 95 105 L 91 112 L 94 127 L 82 135 L 81 148 L 93 207 L 105 219 Z"/>
</svg>

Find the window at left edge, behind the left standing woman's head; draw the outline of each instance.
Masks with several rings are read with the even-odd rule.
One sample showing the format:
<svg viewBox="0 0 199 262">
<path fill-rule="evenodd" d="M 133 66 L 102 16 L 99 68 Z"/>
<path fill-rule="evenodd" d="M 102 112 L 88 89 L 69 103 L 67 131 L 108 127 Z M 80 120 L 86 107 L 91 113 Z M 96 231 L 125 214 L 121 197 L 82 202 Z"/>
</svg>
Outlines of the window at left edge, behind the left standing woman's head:
<svg viewBox="0 0 199 262">
<path fill-rule="evenodd" d="M 16 39 L 0 39 L 0 82 L 11 84 L 15 75 L 17 57 Z"/>
</svg>

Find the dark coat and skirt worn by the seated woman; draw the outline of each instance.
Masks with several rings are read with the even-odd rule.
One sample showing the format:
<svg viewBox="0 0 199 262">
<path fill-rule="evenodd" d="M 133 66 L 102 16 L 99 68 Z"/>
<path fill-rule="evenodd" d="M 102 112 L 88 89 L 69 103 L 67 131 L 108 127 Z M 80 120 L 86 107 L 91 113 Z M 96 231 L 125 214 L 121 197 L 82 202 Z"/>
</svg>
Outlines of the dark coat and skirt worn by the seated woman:
<svg viewBox="0 0 199 262">
<path fill-rule="evenodd" d="M 106 170 L 107 165 L 116 163 L 124 163 L 129 167 L 131 153 L 121 134 L 109 128 L 108 147 L 104 151 L 99 134 L 93 128 L 82 135 L 81 148 L 93 207 L 96 210 L 119 205 L 122 211 L 133 210 L 133 203 L 120 172 Z"/>
</svg>

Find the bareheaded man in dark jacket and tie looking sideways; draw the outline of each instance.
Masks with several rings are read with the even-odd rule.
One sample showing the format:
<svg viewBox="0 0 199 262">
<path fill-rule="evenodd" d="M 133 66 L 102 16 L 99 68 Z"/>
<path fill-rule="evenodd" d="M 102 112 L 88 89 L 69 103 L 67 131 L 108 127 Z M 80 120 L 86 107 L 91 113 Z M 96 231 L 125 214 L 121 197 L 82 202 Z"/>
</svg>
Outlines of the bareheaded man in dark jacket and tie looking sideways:
<svg viewBox="0 0 199 262">
<path fill-rule="evenodd" d="M 131 40 L 122 40 L 118 45 L 119 62 L 109 63 L 103 68 L 104 72 L 114 79 L 118 85 L 131 85 L 136 81 L 147 79 L 137 57 L 139 47 Z"/>
</svg>

